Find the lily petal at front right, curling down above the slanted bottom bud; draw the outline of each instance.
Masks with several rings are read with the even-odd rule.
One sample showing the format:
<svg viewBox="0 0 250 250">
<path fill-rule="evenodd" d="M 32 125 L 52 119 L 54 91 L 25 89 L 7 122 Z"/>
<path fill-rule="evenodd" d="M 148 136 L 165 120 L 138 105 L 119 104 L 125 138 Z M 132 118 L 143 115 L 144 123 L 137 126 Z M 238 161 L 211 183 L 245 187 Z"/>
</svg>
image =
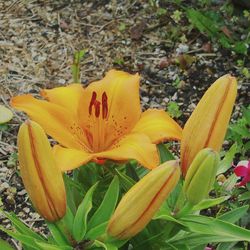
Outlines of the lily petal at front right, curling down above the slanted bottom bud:
<svg viewBox="0 0 250 250">
<path fill-rule="evenodd" d="M 116 161 L 137 160 L 142 166 L 153 169 L 159 164 L 159 156 L 155 144 L 144 134 L 129 134 L 104 152 L 95 154 L 98 158 Z"/>
</svg>

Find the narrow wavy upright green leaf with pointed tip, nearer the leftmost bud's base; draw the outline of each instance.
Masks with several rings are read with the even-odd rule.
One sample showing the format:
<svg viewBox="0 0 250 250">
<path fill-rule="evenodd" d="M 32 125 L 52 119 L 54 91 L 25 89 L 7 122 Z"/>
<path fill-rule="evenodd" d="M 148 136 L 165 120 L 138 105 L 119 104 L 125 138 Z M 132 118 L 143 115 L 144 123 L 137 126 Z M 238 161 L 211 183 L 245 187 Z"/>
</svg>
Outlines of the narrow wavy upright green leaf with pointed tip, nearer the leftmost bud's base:
<svg viewBox="0 0 250 250">
<path fill-rule="evenodd" d="M 82 200 L 82 203 L 79 205 L 76 216 L 74 219 L 74 225 L 73 225 L 73 236 L 75 240 L 81 241 L 86 234 L 87 231 L 87 218 L 88 214 L 92 208 L 92 196 L 93 193 L 97 187 L 97 184 L 94 184 L 85 195 L 84 199 Z"/>
</svg>

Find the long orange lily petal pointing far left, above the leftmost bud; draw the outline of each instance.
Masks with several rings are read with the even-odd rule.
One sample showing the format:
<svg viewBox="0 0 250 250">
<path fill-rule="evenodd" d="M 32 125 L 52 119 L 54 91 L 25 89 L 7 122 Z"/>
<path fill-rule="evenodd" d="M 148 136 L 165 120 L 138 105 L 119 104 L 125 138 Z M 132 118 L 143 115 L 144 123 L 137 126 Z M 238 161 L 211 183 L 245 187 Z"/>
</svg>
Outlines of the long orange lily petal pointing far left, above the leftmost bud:
<svg viewBox="0 0 250 250">
<path fill-rule="evenodd" d="M 75 116 L 69 110 L 54 103 L 37 100 L 31 95 L 16 96 L 11 99 L 12 107 L 24 111 L 39 123 L 47 134 L 69 148 L 84 148 L 79 137 Z"/>
</svg>

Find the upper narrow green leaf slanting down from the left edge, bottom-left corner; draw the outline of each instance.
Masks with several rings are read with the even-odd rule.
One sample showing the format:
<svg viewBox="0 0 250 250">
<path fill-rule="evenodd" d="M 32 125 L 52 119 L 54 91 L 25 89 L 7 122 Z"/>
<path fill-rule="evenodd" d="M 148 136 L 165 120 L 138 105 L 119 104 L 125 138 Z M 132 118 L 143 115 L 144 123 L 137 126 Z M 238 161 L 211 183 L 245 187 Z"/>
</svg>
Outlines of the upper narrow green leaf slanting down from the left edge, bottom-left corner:
<svg viewBox="0 0 250 250">
<path fill-rule="evenodd" d="M 18 232 L 30 236 L 34 239 L 45 242 L 45 239 L 42 236 L 40 236 L 39 234 L 32 231 L 29 227 L 27 227 L 14 213 L 6 213 L 1 208 L 0 212 L 3 213 L 13 223 Z"/>
</svg>

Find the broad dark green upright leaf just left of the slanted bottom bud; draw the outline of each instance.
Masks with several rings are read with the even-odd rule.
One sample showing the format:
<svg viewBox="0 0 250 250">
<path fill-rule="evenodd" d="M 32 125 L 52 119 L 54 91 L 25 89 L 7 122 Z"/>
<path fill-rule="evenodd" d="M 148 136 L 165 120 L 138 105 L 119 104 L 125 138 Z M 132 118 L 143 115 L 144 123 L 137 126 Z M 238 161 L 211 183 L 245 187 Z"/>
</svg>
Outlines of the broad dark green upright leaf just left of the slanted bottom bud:
<svg viewBox="0 0 250 250">
<path fill-rule="evenodd" d="M 119 179 L 115 176 L 112 180 L 103 201 L 94 215 L 91 217 L 88 228 L 92 229 L 109 220 L 113 214 L 119 196 Z"/>
</svg>

